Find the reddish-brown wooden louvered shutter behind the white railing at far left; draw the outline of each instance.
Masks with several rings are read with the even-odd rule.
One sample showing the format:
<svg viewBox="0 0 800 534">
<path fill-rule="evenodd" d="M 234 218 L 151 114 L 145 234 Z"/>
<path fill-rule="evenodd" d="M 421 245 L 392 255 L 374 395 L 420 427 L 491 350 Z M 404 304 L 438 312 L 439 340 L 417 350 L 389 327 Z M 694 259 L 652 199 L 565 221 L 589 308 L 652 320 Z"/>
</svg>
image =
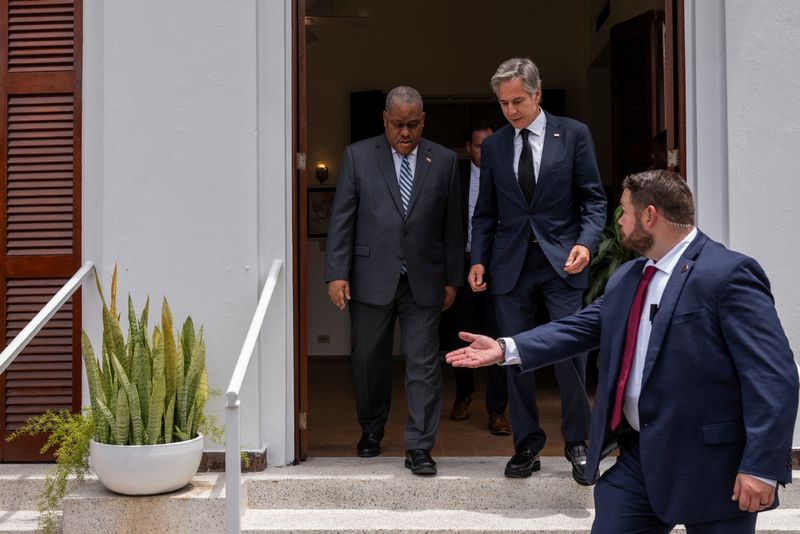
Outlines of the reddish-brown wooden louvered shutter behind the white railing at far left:
<svg viewBox="0 0 800 534">
<path fill-rule="evenodd" d="M 0 0 L 0 339 L 7 344 L 81 263 L 81 0 Z M 30 415 L 78 410 L 76 293 L 0 376 L 0 460 L 39 460 L 41 440 L 6 443 Z"/>
</svg>

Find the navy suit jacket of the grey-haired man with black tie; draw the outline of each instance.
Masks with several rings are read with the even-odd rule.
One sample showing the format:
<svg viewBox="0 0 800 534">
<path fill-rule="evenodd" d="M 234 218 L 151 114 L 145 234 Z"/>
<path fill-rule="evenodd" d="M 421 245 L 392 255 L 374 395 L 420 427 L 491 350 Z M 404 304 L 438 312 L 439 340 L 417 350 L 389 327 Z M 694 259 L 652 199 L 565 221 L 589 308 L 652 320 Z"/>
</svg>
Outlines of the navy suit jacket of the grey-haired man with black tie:
<svg viewBox="0 0 800 534">
<path fill-rule="evenodd" d="M 484 139 L 481 187 L 472 217 L 472 264 L 489 274 L 489 291 L 510 292 L 517 283 L 531 230 L 553 269 L 577 288 L 589 269 L 564 272 L 576 244 L 590 253 L 606 223 L 606 197 L 589 128 L 578 121 L 547 116 L 544 147 L 533 202 L 528 205 L 514 172 L 514 128 L 507 124 Z"/>
</svg>

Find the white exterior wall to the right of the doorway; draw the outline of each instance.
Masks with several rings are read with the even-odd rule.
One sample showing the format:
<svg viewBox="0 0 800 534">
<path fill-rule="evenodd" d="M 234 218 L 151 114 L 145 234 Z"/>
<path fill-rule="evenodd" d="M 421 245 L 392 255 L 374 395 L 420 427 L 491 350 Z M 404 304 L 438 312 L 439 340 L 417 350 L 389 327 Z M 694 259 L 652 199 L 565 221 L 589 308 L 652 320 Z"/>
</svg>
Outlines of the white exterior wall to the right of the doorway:
<svg viewBox="0 0 800 534">
<path fill-rule="evenodd" d="M 794 0 L 686 1 L 687 166 L 699 226 L 761 263 L 796 355 L 798 27 Z"/>
</svg>

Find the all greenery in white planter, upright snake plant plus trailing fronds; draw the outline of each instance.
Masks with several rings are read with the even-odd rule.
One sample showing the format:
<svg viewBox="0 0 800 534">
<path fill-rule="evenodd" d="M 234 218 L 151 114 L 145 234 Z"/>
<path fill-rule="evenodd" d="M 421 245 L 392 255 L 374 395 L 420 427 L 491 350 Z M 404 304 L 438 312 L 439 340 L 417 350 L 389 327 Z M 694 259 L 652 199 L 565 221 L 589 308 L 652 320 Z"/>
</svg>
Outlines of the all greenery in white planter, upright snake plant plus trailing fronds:
<svg viewBox="0 0 800 534">
<path fill-rule="evenodd" d="M 56 510 L 69 477 L 82 482 L 89 466 L 91 439 L 111 445 L 172 443 L 194 439 L 198 433 L 222 443 L 224 433 L 216 419 L 205 415 L 209 396 L 203 328 L 195 333 L 191 317 L 176 336 L 167 300 L 161 307 L 161 325 L 148 336 L 148 297 L 137 318 L 128 296 L 128 339 L 117 313 L 117 268 L 106 301 L 97 272 L 97 291 L 103 304 L 102 360 L 95 357 L 86 332 L 81 336 L 89 385 L 90 407 L 84 413 L 46 412 L 31 417 L 7 439 L 49 433 L 42 453 L 53 449 L 56 464 L 39 496 L 40 526 L 47 534 L 55 527 Z M 152 339 L 152 344 L 151 340 Z"/>
</svg>

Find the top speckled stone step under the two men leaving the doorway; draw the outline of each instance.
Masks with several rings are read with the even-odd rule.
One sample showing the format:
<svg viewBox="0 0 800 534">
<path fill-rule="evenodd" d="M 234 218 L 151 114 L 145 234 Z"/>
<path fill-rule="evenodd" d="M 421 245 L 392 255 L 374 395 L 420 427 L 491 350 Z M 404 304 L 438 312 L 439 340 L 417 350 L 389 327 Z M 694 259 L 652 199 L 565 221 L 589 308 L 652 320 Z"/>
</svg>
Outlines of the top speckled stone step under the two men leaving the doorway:
<svg viewBox="0 0 800 534">
<path fill-rule="evenodd" d="M 526 479 L 503 475 L 508 458 L 440 458 L 439 474 L 420 477 L 402 458 L 313 458 L 248 476 L 248 506 L 264 509 L 573 509 L 593 506 L 592 488 L 572 479 L 563 458 L 543 457 Z M 605 464 L 604 464 L 605 465 Z M 608 461 L 610 465 L 610 461 Z"/>
</svg>

